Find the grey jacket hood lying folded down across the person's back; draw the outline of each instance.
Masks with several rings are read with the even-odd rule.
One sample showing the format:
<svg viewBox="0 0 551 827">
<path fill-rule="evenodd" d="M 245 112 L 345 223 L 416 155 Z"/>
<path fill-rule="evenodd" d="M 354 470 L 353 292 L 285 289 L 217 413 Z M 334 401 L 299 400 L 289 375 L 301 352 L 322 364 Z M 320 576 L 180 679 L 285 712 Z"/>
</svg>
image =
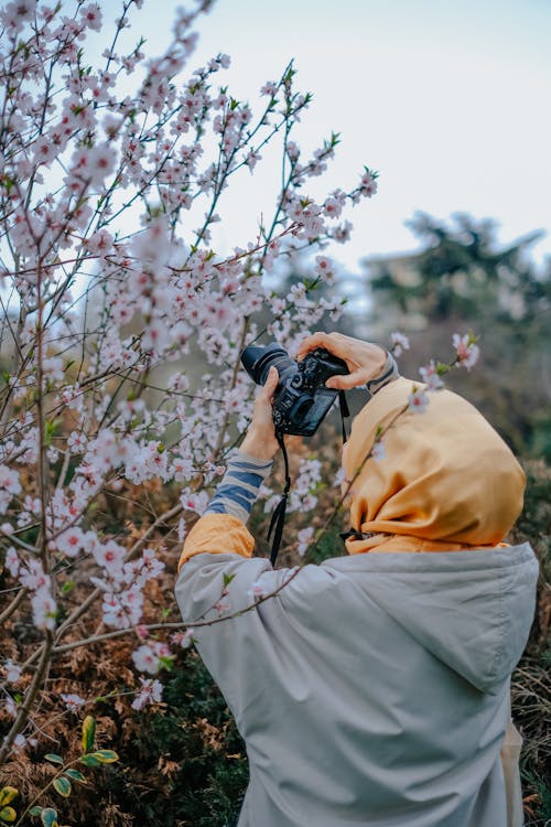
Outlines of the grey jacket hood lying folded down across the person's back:
<svg viewBox="0 0 551 827">
<path fill-rule="evenodd" d="M 499 691 L 522 655 L 538 579 L 529 544 L 440 555 L 367 554 L 327 565 L 346 570 L 418 644 L 480 691 Z"/>
</svg>

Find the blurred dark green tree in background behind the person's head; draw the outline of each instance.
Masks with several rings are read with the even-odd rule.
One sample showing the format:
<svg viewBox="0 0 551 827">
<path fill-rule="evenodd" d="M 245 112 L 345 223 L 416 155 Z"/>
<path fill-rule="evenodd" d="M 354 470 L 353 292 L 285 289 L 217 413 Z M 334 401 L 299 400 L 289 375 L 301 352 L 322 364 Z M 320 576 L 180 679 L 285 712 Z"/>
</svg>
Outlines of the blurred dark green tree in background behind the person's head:
<svg viewBox="0 0 551 827">
<path fill-rule="evenodd" d="M 417 213 L 409 223 L 423 248 L 368 259 L 371 330 L 401 330 L 412 339 L 403 373 L 447 354 L 454 332 L 480 337 L 480 367 L 451 378 L 516 451 L 551 459 L 551 261 L 538 271 L 532 233 L 499 247 L 496 224 L 457 214 L 451 225 Z"/>
</svg>

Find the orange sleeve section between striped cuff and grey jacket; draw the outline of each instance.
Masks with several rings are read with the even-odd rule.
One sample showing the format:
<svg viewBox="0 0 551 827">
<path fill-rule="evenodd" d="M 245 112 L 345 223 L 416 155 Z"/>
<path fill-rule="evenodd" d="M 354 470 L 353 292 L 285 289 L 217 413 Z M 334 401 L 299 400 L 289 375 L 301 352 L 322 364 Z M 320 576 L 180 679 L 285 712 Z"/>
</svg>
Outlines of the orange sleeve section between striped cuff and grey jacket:
<svg viewBox="0 0 551 827">
<path fill-rule="evenodd" d="M 230 514 L 206 514 L 187 535 L 177 570 L 195 555 L 240 555 L 252 557 L 255 540 L 245 523 Z"/>
</svg>

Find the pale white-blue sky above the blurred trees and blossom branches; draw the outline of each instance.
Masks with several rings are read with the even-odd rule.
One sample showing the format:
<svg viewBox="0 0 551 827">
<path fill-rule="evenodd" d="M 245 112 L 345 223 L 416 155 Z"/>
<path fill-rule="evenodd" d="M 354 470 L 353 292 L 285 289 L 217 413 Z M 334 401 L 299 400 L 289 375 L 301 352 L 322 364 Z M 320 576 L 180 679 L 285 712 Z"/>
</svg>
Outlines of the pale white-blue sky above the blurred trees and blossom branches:
<svg viewBox="0 0 551 827">
<path fill-rule="evenodd" d="M 148 53 L 168 42 L 179 4 L 145 0 L 136 15 Z M 314 197 L 354 186 L 364 163 L 379 171 L 379 194 L 350 216 L 352 241 L 331 251 L 349 269 L 414 249 L 403 223 L 415 210 L 496 218 L 504 244 L 543 228 L 534 258 L 551 255 L 551 0 L 217 0 L 198 29 L 192 65 L 228 53 L 219 80 L 252 106 L 294 57 L 299 86 L 314 94 L 299 143 L 342 136 Z M 255 237 L 278 178 L 269 167 L 228 193 L 217 245 Z"/>
</svg>

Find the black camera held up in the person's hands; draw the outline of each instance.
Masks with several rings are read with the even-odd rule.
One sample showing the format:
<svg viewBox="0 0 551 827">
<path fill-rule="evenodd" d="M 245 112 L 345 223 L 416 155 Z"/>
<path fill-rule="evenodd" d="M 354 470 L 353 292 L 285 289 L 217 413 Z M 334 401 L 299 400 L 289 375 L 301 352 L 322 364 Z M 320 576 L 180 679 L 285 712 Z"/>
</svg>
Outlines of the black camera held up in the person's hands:
<svg viewBox="0 0 551 827">
<path fill-rule="evenodd" d="M 279 385 L 273 398 L 273 422 L 280 433 L 311 437 L 317 430 L 338 390 L 325 387 L 329 376 L 347 374 L 346 362 L 318 347 L 295 362 L 278 344 L 250 345 L 241 353 L 241 364 L 257 385 L 263 385 L 272 365 Z"/>
</svg>

